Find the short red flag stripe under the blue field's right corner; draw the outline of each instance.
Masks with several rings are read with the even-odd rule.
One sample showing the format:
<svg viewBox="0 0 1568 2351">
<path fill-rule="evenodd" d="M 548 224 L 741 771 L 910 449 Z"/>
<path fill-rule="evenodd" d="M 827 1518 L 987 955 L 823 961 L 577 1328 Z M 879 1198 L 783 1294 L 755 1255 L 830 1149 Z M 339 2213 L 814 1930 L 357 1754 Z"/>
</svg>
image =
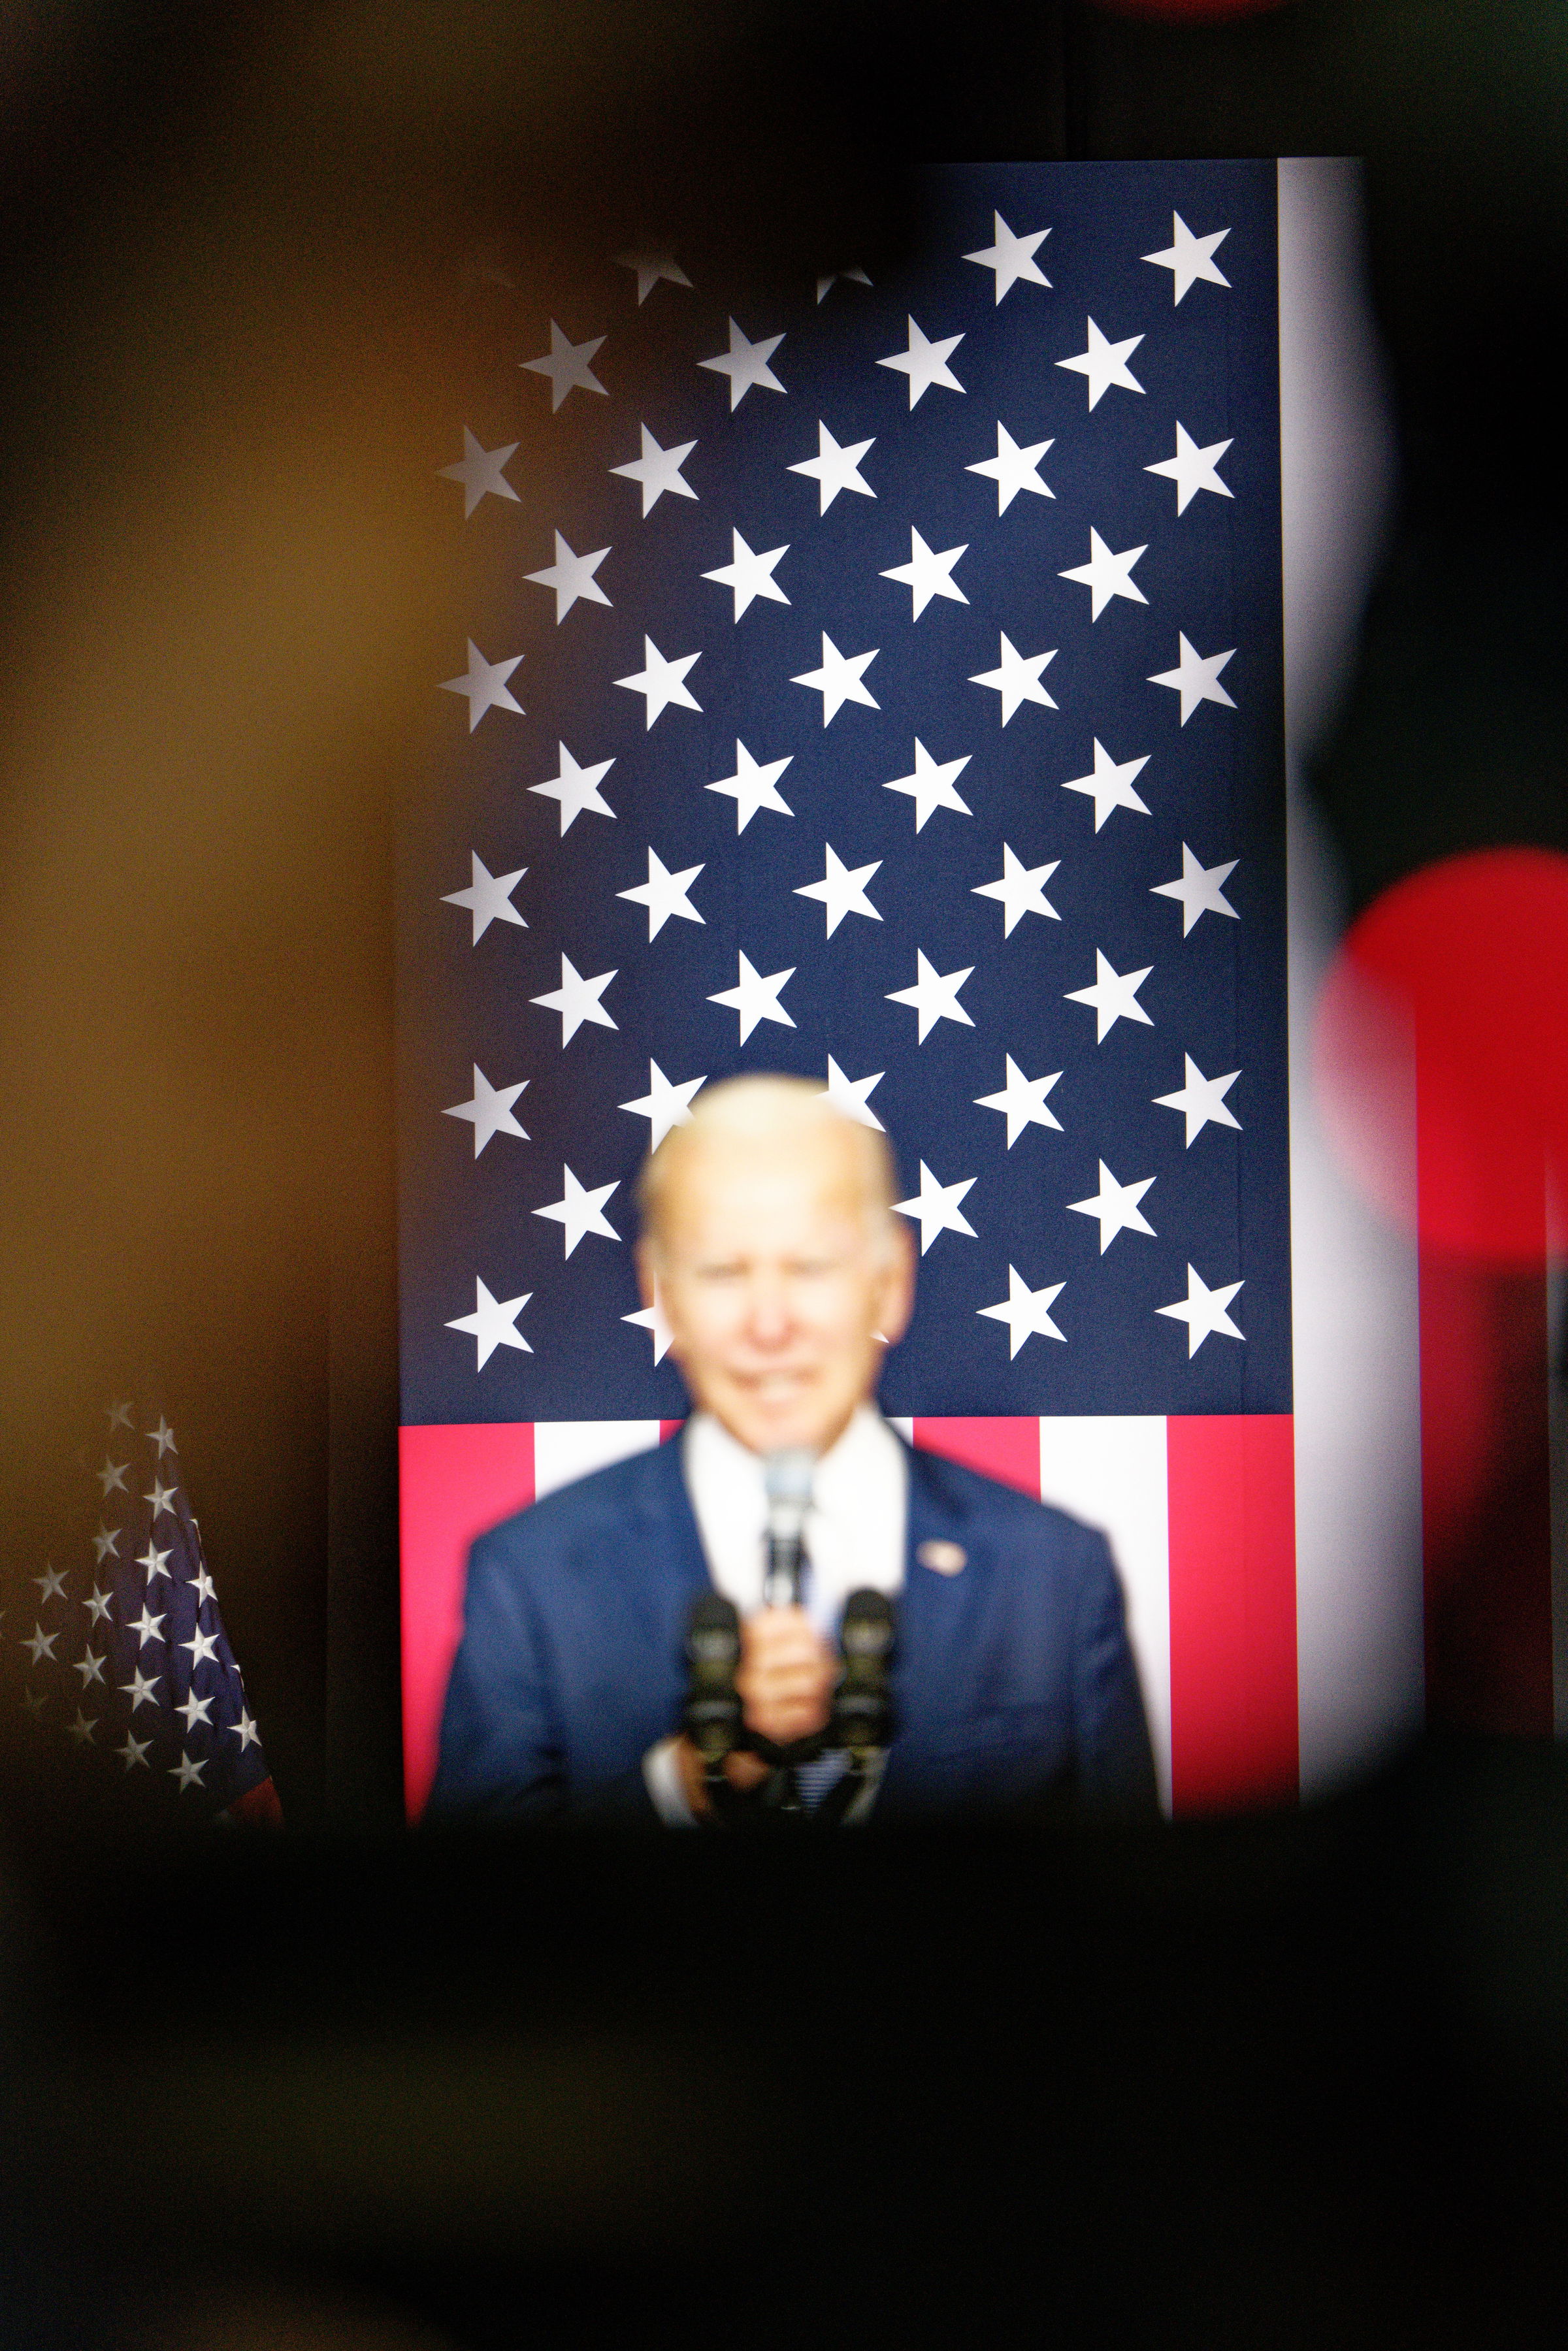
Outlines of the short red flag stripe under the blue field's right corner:
<svg viewBox="0 0 1568 2351">
<path fill-rule="evenodd" d="M 1295 1458 L 1288 1413 L 1166 1422 L 1171 1801 L 1293 1803 Z"/>
</svg>

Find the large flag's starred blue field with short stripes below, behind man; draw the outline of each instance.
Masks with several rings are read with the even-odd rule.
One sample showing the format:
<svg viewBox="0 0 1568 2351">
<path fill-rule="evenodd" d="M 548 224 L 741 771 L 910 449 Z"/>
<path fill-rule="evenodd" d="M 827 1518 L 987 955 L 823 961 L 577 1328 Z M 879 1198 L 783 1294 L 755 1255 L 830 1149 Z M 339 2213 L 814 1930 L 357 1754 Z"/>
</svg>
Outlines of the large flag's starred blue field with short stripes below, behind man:
<svg viewBox="0 0 1568 2351">
<path fill-rule="evenodd" d="M 891 1133 L 884 1406 L 1107 1528 L 1173 1806 L 1293 1794 L 1274 165 L 952 169 L 884 282 L 522 336 L 402 877 L 411 1810 L 473 1535 L 684 1408 L 632 1176 L 752 1067 Z"/>
</svg>

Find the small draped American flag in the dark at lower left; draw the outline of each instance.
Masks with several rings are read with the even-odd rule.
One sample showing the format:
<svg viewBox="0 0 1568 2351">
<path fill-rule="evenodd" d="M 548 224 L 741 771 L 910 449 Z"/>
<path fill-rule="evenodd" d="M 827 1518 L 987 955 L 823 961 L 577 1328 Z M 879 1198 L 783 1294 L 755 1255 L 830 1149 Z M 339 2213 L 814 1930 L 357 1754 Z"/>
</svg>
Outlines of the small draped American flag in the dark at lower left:
<svg viewBox="0 0 1568 2351">
<path fill-rule="evenodd" d="M 40 1730 L 118 1759 L 153 1803 L 244 1810 L 263 1787 L 270 1799 L 268 1763 L 174 1429 L 132 1399 L 103 1420 L 80 1479 L 82 1538 L 40 1566 L 35 1606 L 7 1627 L 14 1702 Z"/>
</svg>

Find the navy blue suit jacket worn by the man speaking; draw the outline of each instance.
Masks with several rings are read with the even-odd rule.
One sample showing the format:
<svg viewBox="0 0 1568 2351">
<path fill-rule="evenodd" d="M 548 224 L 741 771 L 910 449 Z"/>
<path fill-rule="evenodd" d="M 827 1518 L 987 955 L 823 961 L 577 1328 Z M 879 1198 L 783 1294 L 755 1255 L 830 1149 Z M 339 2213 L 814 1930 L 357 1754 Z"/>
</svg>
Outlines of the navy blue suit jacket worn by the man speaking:
<svg viewBox="0 0 1568 2351">
<path fill-rule="evenodd" d="M 877 1820 L 1072 1791 L 1154 1808 L 1154 1766 L 1105 1538 L 910 1453 L 896 1737 Z M 957 1575 L 924 1542 L 966 1554 Z M 677 1728 L 686 1615 L 710 1592 L 679 1444 L 480 1535 L 430 1796 L 437 1815 L 654 1820 L 642 1756 Z"/>
</svg>

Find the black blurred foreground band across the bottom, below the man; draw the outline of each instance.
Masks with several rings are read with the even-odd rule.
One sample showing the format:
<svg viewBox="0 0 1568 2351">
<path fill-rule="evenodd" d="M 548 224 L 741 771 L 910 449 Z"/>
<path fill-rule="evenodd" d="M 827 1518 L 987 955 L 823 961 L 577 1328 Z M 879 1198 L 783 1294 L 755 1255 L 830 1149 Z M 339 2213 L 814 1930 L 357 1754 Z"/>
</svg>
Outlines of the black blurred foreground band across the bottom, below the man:
<svg viewBox="0 0 1568 2351">
<path fill-rule="evenodd" d="M 1121 1841 L 14 1860 L 26 2351 L 1561 2339 L 1552 1751 Z"/>
</svg>

